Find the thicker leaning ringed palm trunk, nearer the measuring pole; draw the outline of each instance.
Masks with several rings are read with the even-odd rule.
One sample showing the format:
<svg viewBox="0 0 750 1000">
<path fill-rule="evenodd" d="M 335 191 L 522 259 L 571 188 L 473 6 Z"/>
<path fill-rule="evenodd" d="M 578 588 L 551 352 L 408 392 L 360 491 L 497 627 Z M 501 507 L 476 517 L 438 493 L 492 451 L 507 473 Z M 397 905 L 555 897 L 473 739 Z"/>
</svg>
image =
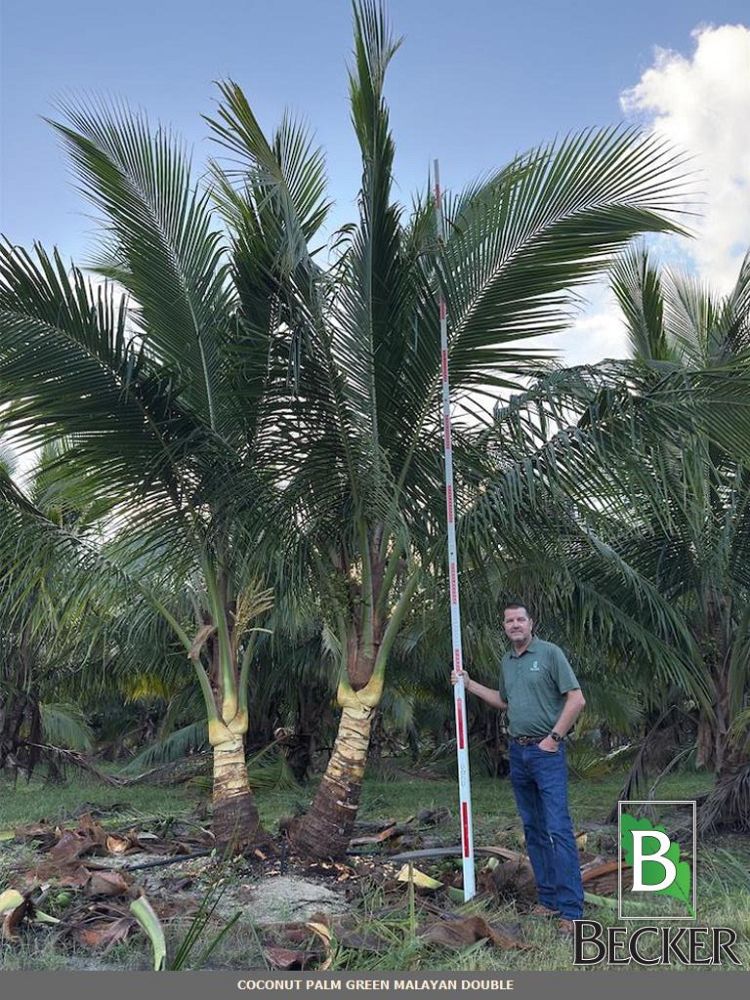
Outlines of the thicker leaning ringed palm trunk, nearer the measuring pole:
<svg viewBox="0 0 750 1000">
<path fill-rule="evenodd" d="M 331 759 L 313 803 L 292 832 L 300 854 L 339 857 L 352 837 L 367 763 L 370 730 L 380 702 L 382 682 L 373 678 L 361 691 L 339 688 L 341 721 Z"/>
</svg>

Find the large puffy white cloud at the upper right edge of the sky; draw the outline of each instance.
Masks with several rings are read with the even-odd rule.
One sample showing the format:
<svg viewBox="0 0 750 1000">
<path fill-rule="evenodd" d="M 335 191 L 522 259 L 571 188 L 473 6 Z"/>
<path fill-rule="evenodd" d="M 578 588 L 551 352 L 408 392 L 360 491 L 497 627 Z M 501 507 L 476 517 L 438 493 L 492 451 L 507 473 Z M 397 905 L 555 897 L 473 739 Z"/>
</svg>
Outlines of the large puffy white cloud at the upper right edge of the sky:
<svg viewBox="0 0 750 1000">
<path fill-rule="evenodd" d="M 657 49 L 621 104 L 693 157 L 703 204 L 686 249 L 726 292 L 750 245 L 750 27 L 701 27 L 693 39 L 690 56 Z"/>
</svg>

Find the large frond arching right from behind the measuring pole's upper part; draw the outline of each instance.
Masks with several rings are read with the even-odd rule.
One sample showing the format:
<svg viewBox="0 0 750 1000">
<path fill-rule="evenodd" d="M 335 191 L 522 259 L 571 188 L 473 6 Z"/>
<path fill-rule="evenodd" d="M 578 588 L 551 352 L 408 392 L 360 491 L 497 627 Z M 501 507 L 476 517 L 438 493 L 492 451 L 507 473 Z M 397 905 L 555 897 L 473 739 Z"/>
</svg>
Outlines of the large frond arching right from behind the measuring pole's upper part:
<svg viewBox="0 0 750 1000">
<path fill-rule="evenodd" d="M 520 156 L 452 220 L 441 278 L 456 387 L 507 384 L 512 346 L 560 330 L 571 291 L 643 231 L 675 232 L 682 160 L 633 129 L 588 130 Z"/>
</svg>

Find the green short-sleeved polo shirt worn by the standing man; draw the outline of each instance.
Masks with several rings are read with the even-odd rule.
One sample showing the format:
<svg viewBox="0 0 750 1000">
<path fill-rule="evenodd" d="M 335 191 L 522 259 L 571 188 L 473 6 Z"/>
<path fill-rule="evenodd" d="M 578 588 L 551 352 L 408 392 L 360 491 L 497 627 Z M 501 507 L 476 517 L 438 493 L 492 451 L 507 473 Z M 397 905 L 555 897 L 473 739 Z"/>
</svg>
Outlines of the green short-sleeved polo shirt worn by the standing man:
<svg viewBox="0 0 750 1000">
<path fill-rule="evenodd" d="M 511 736 L 546 736 L 560 718 L 565 692 L 580 688 L 565 653 L 534 636 L 520 656 L 513 647 L 500 667 L 498 689 L 508 703 Z"/>
</svg>

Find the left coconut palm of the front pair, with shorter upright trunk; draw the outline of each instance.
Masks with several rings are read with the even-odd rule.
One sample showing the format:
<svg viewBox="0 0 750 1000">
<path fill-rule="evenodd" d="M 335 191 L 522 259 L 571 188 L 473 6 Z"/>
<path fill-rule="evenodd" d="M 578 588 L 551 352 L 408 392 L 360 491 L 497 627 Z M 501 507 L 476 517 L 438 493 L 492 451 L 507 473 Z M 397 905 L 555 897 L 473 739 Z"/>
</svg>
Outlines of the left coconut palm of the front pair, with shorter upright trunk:
<svg viewBox="0 0 750 1000">
<path fill-rule="evenodd" d="M 2 560 L 32 587 L 67 559 L 85 571 L 71 599 L 100 588 L 169 624 L 203 695 L 214 833 L 241 846 L 259 827 L 244 759 L 248 635 L 268 605 L 244 518 L 273 467 L 262 393 L 273 352 L 266 338 L 262 360 L 238 357 L 229 246 L 181 144 L 124 107 L 69 107 L 54 127 L 100 212 L 105 282 L 57 251 L 0 247 L 0 421 L 26 446 L 67 442 L 59 475 L 107 505 L 112 537 L 84 542 L 6 481 Z M 272 308 L 267 296 L 255 321 L 265 309 L 268 328 Z"/>
</svg>

